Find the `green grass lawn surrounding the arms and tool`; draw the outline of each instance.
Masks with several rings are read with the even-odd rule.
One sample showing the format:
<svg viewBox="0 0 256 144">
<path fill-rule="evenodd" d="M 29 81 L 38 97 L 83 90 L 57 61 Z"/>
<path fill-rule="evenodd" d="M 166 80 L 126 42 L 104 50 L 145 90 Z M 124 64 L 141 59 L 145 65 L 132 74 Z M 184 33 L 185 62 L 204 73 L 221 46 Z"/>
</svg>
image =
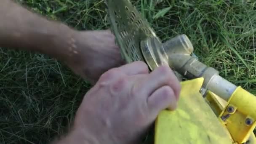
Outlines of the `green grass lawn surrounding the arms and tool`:
<svg viewBox="0 0 256 144">
<path fill-rule="evenodd" d="M 76 29 L 109 26 L 104 0 L 18 1 Z M 163 0 L 157 5 L 152 0 L 132 2 L 162 40 L 186 34 L 200 61 L 256 94 L 256 3 L 243 0 Z M 157 12 L 165 8 L 168 11 L 164 17 L 158 17 Z M 91 86 L 59 61 L 42 54 L 0 48 L 0 59 L 0 143 L 45 144 L 63 133 Z"/>
</svg>

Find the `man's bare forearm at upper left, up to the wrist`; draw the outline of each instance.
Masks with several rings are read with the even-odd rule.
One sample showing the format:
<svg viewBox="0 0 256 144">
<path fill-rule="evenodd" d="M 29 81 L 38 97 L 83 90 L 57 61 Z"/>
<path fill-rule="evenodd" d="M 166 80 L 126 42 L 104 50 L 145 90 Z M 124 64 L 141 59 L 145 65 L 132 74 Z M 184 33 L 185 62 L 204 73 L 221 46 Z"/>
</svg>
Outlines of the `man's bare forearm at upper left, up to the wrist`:
<svg viewBox="0 0 256 144">
<path fill-rule="evenodd" d="M 0 47 L 45 53 L 58 59 L 69 54 L 75 30 L 49 21 L 14 3 L 0 0 Z"/>
</svg>

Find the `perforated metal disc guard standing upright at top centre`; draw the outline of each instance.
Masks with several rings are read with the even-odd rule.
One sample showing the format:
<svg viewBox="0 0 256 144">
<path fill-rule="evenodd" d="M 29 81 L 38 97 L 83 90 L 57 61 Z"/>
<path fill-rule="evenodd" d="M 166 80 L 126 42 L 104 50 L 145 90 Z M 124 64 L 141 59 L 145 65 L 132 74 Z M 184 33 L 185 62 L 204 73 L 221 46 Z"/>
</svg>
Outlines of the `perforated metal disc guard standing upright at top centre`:
<svg viewBox="0 0 256 144">
<path fill-rule="evenodd" d="M 106 0 L 105 2 L 112 32 L 121 48 L 123 58 L 128 63 L 144 61 L 140 42 L 148 37 L 156 37 L 155 32 L 129 0 Z"/>
</svg>

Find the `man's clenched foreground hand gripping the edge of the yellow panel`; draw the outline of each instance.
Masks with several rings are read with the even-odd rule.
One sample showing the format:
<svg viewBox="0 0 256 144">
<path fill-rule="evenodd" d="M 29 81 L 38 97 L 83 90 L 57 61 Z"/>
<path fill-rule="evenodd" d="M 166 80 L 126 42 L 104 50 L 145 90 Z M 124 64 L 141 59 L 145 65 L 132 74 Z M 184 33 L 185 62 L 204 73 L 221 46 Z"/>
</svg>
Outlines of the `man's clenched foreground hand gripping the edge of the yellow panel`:
<svg viewBox="0 0 256 144">
<path fill-rule="evenodd" d="M 105 72 L 85 95 L 62 144 L 136 144 L 163 109 L 176 109 L 181 86 L 169 67 L 141 61 Z"/>
</svg>

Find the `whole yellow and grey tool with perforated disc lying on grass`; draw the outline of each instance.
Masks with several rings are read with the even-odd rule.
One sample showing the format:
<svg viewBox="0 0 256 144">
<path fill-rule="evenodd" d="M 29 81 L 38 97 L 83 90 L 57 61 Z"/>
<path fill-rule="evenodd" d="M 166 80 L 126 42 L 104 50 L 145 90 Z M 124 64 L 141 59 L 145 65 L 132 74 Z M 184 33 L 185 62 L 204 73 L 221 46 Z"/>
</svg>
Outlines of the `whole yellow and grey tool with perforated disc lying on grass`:
<svg viewBox="0 0 256 144">
<path fill-rule="evenodd" d="M 187 78 L 181 82 L 178 108 L 157 117 L 155 144 L 254 144 L 255 96 L 192 56 L 194 48 L 187 35 L 162 43 L 129 0 L 106 0 L 106 5 L 111 30 L 127 63 L 144 61 L 151 71 L 168 64 Z"/>
</svg>

